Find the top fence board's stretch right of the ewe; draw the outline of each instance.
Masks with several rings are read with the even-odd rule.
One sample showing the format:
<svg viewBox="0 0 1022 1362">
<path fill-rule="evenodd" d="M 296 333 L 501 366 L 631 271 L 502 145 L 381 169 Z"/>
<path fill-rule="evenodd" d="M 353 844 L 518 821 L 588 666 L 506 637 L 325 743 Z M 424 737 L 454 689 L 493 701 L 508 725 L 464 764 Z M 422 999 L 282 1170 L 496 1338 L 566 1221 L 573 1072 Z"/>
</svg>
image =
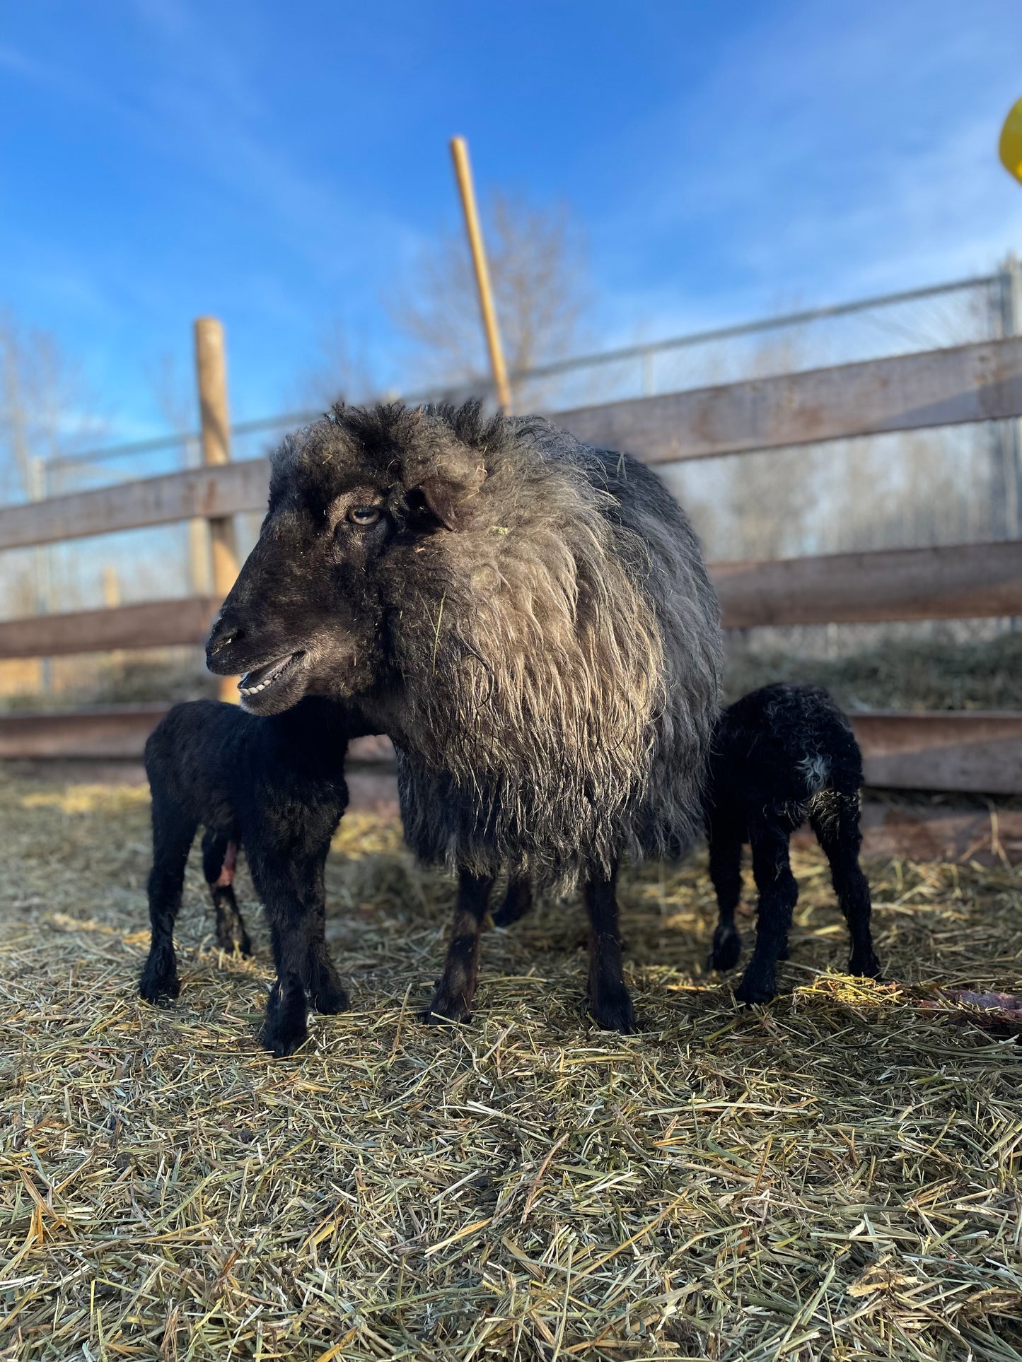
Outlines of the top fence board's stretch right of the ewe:
<svg viewBox="0 0 1022 1362">
<path fill-rule="evenodd" d="M 646 463 L 1022 415 L 1022 338 L 561 411 L 579 440 Z"/>
</svg>

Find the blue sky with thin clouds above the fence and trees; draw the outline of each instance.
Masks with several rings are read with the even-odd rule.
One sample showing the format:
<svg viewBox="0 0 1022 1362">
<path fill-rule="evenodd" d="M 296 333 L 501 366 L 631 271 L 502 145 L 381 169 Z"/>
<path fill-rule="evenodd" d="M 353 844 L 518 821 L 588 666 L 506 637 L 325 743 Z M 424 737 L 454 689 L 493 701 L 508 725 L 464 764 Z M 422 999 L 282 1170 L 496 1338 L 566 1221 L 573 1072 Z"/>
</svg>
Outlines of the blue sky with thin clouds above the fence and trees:
<svg viewBox="0 0 1022 1362">
<path fill-rule="evenodd" d="M 228 327 L 238 419 L 293 403 L 342 319 L 481 192 L 566 200 L 598 345 L 985 272 L 1022 251 L 996 161 L 1017 0 L 90 0 L 5 5 L 0 304 L 155 433 L 157 357 Z"/>
</svg>

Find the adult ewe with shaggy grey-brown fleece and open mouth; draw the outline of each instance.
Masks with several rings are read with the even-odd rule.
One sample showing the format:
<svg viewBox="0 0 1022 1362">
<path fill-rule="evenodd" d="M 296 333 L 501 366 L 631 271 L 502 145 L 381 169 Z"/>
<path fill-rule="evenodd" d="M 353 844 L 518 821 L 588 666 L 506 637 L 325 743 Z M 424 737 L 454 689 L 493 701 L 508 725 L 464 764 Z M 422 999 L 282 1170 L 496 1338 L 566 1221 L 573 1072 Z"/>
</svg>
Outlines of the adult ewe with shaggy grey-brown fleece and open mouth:
<svg viewBox="0 0 1022 1362">
<path fill-rule="evenodd" d="M 635 459 L 548 422 L 338 406 L 285 440 L 207 648 L 241 703 L 354 699 L 394 740 L 405 834 L 461 874 L 429 1008 L 462 1019 L 503 865 L 583 881 L 589 1000 L 632 1028 L 615 880 L 699 823 L 721 632 L 699 545 Z"/>
</svg>

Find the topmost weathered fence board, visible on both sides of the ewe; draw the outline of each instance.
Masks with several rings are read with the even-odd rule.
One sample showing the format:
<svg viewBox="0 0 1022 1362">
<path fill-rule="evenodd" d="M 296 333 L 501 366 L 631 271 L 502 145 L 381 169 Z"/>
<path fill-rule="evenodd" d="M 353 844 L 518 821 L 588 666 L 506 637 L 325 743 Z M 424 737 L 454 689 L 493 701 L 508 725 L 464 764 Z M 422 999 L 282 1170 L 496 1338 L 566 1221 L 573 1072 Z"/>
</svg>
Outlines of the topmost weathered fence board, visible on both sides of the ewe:
<svg viewBox="0 0 1022 1362">
<path fill-rule="evenodd" d="M 1022 338 L 561 411 L 579 439 L 647 463 L 1022 417 Z M 266 505 L 266 459 L 0 507 L 0 549 L 222 519 Z"/>
</svg>

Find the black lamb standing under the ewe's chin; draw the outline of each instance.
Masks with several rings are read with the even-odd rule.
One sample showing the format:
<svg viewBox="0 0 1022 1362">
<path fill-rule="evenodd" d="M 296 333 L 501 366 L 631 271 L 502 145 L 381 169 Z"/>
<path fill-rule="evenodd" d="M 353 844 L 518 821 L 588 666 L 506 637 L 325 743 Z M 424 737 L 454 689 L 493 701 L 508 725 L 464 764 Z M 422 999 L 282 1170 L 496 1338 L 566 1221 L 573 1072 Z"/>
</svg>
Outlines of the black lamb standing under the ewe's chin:
<svg viewBox="0 0 1022 1362">
<path fill-rule="evenodd" d="M 266 907 L 277 967 L 263 1030 L 267 1049 L 290 1054 L 305 1039 L 307 994 L 319 1012 L 347 1007 L 324 940 L 323 868 L 347 805 L 347 741 L 367 731 L 356 712 L 313 697 L 271 718 L 214 700 L 170 710 L 146 744 L 153 943 L 143 998 L 165 1002 L 180 990 L 173 929 L 188 851 L 202 825 L 219 945 L 249 953 L 230 883 L 240 846 Z"/>
</svg>

